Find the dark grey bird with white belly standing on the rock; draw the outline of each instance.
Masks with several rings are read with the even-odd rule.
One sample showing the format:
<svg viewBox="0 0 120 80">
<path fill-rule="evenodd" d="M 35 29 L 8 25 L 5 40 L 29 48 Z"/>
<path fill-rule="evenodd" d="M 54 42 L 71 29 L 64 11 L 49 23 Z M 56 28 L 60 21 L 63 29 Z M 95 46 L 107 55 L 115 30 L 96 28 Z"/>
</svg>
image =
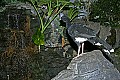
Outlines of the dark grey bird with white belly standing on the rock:
<svg viewBox="0 0 120 80">
<path fill-rule="evenodd" d="M 70 19 L 65 15 L 61 17 L 61 20 L 66 23 L 66 29 L 68 34 L 78 46 L 78 52 L 76 57 L 80 56 L 81 48 L 81 55 L 84 53 L 85 41 L 89 41 L 93 45 L 103 46 L 105 48 L 103 50 L 107 53 L 114 52 L 114 49 L 112 49 L 112 47 L 105 40 L 102 40 L 96 36 L 97 33 L 93 29 L 86 27 L 86 25 L 78 23 L 71 24 Z"/>
</svg>

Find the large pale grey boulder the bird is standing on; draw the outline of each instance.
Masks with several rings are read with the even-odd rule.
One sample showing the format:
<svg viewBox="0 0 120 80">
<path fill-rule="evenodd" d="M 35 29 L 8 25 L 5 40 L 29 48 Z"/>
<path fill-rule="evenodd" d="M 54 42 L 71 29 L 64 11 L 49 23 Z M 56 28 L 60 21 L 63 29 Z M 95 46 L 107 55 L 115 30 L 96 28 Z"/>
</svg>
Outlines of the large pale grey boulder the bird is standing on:
<svg viewBox="0 0 120 80">
<path fill-rule="evenodd" d="M 73 59 L 51 80 L 120 80 L 120 73 L 101 51 L 95 50 Z"/>
</svg>

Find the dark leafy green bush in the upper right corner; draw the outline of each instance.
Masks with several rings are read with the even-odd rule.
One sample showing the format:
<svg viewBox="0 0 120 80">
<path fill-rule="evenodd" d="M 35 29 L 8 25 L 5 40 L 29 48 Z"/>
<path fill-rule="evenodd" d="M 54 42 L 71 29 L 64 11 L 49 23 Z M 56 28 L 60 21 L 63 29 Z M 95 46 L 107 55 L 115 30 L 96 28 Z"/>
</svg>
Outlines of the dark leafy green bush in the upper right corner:
<svg viewBox="0 0 120 80">
<path fill-rule="evenodd" d="M 120 27 L 120 1 L 98 0 L 91 5 L 90 19 L 104 25 Z M 96 16 L 99 18 L 95 19 Z"/>
</svg>

